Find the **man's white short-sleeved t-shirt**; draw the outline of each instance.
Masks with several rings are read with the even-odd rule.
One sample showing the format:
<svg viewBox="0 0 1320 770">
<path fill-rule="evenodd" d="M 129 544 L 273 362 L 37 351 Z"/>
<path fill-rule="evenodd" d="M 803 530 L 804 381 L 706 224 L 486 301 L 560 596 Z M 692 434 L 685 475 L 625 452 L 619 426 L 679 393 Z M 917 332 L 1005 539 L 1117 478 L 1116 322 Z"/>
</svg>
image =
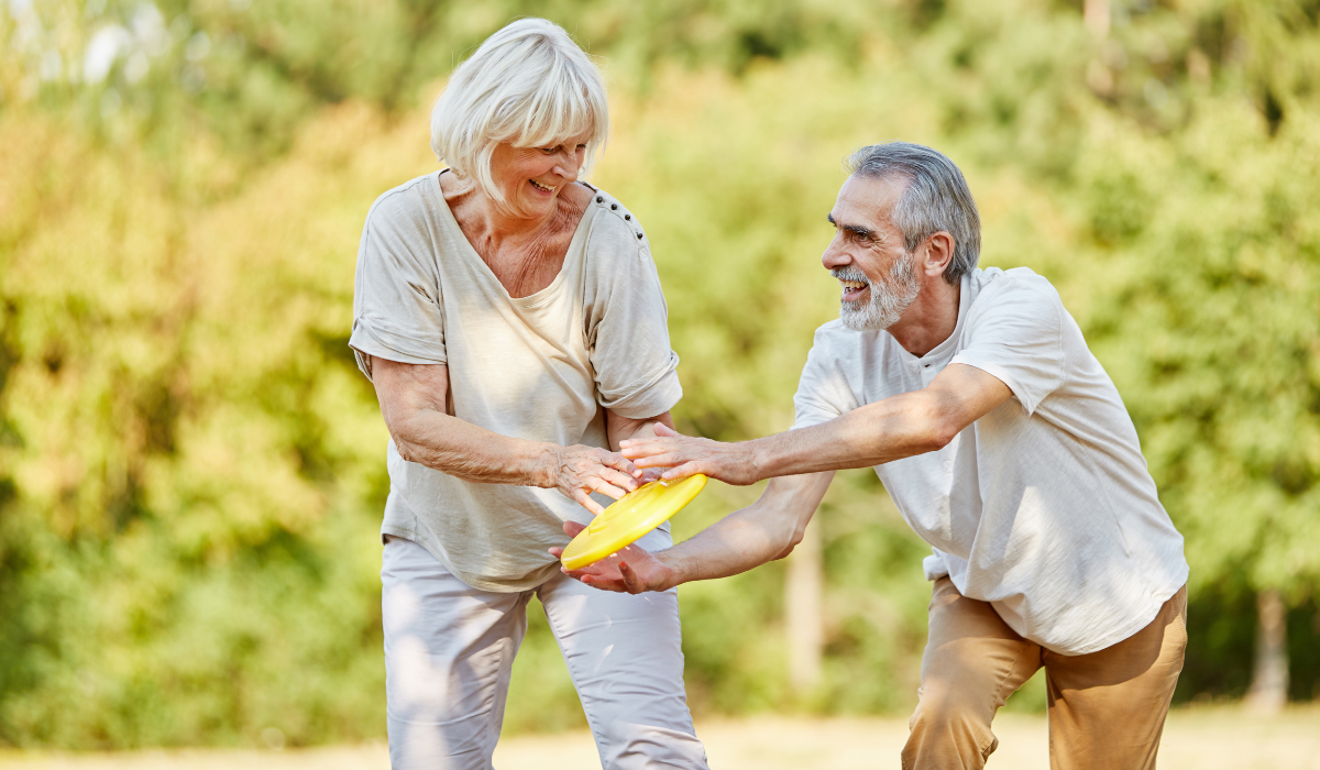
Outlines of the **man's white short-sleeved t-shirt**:
<svg viewBox="0 0 1320 770">
<path fill-rule="evenodd" d="M 1012 398 L 948 446 L 875 466 L 948 575 L 1020 635 L 1064 655 L 1121 642 L 1187 582 L 1131 417 L 1059 293 L 1027 268 L 962 277 L 958 324 L 917 358 L 887 332 L 816 332 L 795 428 L 924 388 L 949 363 Z"/>
</svg>

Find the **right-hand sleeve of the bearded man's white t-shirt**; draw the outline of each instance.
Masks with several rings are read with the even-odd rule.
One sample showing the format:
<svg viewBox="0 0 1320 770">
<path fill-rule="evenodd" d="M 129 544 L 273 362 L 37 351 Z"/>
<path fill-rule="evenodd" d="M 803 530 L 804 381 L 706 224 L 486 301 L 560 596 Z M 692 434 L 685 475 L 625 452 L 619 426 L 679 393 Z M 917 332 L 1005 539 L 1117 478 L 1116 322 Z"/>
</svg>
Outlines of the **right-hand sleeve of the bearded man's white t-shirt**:
<svg viewBox="0 0 1320 770">
<path fill-rule="evenodd" d="M 968 342 L 949 363 L 995 376 L 1031 415 L 1064 382 L 1063 302 L 1030 279 L 999 280 L 977 297 Z"/>
</svg>

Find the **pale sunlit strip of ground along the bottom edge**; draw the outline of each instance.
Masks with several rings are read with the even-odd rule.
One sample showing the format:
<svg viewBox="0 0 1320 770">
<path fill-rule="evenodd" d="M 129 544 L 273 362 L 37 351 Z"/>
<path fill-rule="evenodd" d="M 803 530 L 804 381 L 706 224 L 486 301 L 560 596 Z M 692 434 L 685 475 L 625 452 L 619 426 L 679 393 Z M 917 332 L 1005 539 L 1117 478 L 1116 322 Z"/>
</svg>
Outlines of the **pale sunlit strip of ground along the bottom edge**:
<svg viewBox="0 0 1320 770">
<path fill-rule="evenodd" d="M 896 767 L 907 737 L 903 718 L 762 717 L 698 725 L 715 770 Z M 990 767 L 1044 770 L 1049 766 L 1044 717 L 1002 715 L 999 750 Z M 587 733 L 520 736 L 500 742 L 500 770 L 582 770 L 598 766 Z M 0 766 L 24 770 L 347 770 L 388 767 L 384 745 L 284 752 L 185 750 L 119 754 L 0 753 Z M 1160 748 L 1163 770 L 1320 770 L 1320 707 L 1262 717 L 1238 708 L 1176 711 Z"/>
</svg>

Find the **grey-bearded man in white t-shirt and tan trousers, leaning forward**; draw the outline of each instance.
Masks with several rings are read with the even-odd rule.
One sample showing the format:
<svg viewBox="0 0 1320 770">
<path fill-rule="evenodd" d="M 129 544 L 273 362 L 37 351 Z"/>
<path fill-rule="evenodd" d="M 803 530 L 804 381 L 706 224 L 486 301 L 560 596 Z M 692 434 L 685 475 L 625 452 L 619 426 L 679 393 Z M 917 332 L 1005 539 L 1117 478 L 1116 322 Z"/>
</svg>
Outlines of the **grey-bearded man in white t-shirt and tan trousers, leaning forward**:
<svg viewBox="0 0 1320 770">
<path fill-rule="evenodd" d="M 766 494 L 680 545 L 573 576 L 638 593 L 751 569 L 792 551 L 834 470 L 875 466 L 933 549 L 903 766 L 982 767 L 995 711 L 1044 667 L 1052 767 L 1154 767 L 1187 561 L 1118 391 L 1049 281 L 977 269 L 979 217 L 949 158 L 888 143 L 849 170 L 821 260 L 841 317 L 816 332 L 793 429 L 622 442 L 639 468 L 772 478 Z"/>
</svg>

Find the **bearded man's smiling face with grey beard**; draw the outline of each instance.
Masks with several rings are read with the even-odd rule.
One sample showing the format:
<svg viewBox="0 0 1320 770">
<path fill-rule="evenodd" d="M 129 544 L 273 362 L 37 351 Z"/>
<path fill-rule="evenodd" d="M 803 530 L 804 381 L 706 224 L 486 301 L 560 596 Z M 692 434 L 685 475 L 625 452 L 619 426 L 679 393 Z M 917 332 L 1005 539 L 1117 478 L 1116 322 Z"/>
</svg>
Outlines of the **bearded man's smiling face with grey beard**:
<svg viewBox="0 0 1320 770">
<path fill-rule="evenodd" d="M 888 329 L 921 289 L 916 255 L 894 226 L 904 180 L 849 177 L 829 214 L 837 232 L 821 264 L 840 283 L 840 320 L 849 329 Z"/>
</svg>

